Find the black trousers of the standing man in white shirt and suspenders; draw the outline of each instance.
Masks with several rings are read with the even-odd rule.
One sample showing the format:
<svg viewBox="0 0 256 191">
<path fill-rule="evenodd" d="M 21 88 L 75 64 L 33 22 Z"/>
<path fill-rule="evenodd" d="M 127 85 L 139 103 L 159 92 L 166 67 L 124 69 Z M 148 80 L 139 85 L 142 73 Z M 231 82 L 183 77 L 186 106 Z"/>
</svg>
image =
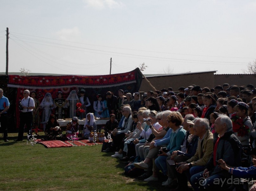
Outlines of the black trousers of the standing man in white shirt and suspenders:
<svg viewBox="0 0 256 191">
<path fill-rule="evenodd" d="M 24 112 L 20 113 L 20 127 L 19 127 L 18 140 L 23 140 L 23 133 L 24 133 L 25 124 L 27 126 L 28 135 L 32 134 L 32 129 L 31 129 L 32 121 L 33 121 L 32 111 L 25 112 L 25 113 Z"/>
</svg>

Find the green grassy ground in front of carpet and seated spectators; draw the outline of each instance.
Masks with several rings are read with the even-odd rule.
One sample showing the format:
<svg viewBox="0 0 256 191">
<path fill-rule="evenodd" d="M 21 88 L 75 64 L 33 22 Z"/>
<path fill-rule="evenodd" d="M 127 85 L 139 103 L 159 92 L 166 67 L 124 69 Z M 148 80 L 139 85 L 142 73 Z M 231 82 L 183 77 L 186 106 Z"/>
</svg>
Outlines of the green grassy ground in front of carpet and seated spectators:
<svg viewBox="0 0 256 191">
<path fill-rule="evenodd" d="M 14 141 L 17 133 L 8 136 L 9 142 L 0 137 L 1 191 L 169 190 L 162 181 L 148 184 L 125 176 L 125 164 L 101 152 L 102 145 L 45 148 L 27 145 L 25 134 L 20 142 Z"/>
</svg>

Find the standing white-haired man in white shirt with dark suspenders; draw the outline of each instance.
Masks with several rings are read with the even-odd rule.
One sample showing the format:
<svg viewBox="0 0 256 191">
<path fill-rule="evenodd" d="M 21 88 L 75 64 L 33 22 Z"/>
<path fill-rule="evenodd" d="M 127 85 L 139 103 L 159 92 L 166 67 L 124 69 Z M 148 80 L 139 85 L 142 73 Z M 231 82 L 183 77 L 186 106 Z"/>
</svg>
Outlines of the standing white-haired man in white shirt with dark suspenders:
<svg viewBox="0 0 256 191">
<path fill-rule="evenodd" d="M 35 109 L 35 102 L 33 98 L 30 98 L 30 92 L 29 90 L 24 90 L 23 92 L 24 98 L 21 100 L 20 105 L 20 126 L 19 126 L 19 133 L 18 133 L 18 139 L 15 141 L 22 141 L 23 140 L 23 133 L 24 133 L 24 126 L 26 124 L 28 135 L 32 135 L 32 129 L 31 124 L 33 121 L 33 114 L 32 111 Z"/>
</svg>

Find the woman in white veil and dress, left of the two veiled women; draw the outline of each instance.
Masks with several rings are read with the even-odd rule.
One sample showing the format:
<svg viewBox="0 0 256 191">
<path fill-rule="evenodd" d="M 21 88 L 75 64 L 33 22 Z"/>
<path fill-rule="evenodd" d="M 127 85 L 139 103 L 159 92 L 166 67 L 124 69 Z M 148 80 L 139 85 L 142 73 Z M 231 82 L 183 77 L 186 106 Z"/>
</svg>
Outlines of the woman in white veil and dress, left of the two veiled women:
<svg viewBox="0 0 256 191">
<path fill-rule="evenodd" d="M 43 109 L 42 113 L 42 123 L 43 123 L 43 131 L 45 131 L 46 123 L 49 121 L 49 117 L 52 113 L 53 109 L 53 99 L 50 93 L 46 93 L 43 101 L 40 104 L 40 108 Z"/>
</svg>

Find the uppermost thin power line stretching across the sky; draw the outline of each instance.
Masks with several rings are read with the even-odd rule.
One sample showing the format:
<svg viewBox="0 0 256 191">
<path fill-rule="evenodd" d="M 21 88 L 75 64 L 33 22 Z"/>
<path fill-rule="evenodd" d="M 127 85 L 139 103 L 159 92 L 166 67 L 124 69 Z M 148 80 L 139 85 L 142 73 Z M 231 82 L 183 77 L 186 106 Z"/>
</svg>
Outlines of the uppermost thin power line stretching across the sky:
<svg viewBox="0 0 256 191">
<path fill-rule="evenodd" d="M 16 34 L 22 34 L 22 33 L 16 33 Z M 29 35 L 29 34 L 22 34 L 22 35 L 33 36 L 33 35 Z M 39 37 L 39 36 L 33 36 L 33 37 L 43 38 L 43 39 L 51 39 L 51 38 L 45 38 L 45 37 Z M 250 58 L 250 57 L 223 57 L 223 56 L 209 56 L 209 55 L 181 54 L 181 53 L 171 53 L 171 52 L 145 51 L 145 50 L 138 50 L 138 49 L 128 49 L 128 48 L 103 46 L 103 45 L 93 45 L 93 44 L 80 43 L 80 42 L 74 42 L 74 41 L 68 41 L 68 40 L 59 40 L 59 39 L 51 39 L 51 40 L 58 40 L 58 41 L 63 41 L 63 42 L 71 42 L 71 43 L 77 43 L 77 44 L 83 44 L 83 45 L 91 45 L 91 46 L 100 46 L 100 47 L 106 47 L 106 48 L 116 48 L 116 49 L 131 50 L 131 51 L 143 51 L 143 52 L 155 52 L 155 53 L 163 53 L 163 54 L 186 55 L 186 56 L 200 56 L 200 57 L 221 57 L 221 58 L 255 59 L 255 58 Z"/>
</svg>

